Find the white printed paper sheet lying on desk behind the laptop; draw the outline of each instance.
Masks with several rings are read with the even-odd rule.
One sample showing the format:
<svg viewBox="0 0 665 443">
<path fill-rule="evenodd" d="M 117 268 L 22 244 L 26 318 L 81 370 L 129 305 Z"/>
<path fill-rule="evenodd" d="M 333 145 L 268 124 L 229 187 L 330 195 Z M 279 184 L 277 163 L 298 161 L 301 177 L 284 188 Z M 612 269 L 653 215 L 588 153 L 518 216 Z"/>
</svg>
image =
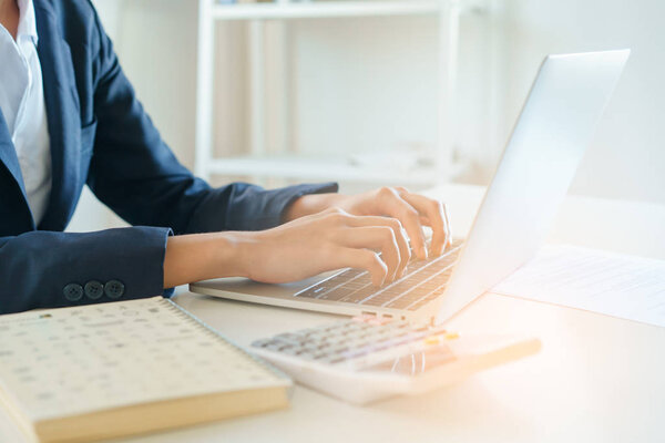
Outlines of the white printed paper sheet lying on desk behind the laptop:
<svg viewBox="0 0 665 443">
<path fill-rule="evenodd" d="M 665 326 L 663 260 L 549 246 L 491 292 Z"/>
</svg>

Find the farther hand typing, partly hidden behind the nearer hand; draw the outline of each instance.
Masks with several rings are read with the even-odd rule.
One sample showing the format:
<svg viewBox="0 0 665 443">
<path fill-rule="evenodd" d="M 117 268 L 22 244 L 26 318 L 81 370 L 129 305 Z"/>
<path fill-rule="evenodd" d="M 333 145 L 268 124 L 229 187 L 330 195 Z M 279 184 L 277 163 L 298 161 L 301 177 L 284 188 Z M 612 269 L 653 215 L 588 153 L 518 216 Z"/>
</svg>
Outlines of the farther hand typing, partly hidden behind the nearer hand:
<svg viewBox="0 0 665 443">
<path fill-rule="evenodd" d="M 440 255 L 452 243 L 446 205 L 403 187 L 382 187 L 359 195 L 315 194 L 298 198 L 287 210 L 286 220 L 339 207 L 357 216 L 387 216 L 398 219 L 407 230 L 416 256 L 428 257 L 422 226 L 432 228 L 429 253 Z"/>
</svg>

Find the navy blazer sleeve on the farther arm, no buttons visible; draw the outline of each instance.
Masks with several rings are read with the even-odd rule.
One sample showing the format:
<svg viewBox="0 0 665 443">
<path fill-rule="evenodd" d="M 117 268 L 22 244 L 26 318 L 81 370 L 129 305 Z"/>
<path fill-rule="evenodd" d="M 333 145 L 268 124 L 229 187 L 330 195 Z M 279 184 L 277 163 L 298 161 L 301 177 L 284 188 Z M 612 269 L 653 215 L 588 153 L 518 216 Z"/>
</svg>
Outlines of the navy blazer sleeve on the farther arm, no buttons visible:
<svg viewBox="0 0 665 443">
<path fill-rule="evenodd" d="M 99 44 L 91 47 L 99 50 L 91 58 L 91 71 L 98 130 L 88 185 L 126 222 L 166 226 L 175 234 L 266 229 L 282 222 L 295 198 L 337 190 L 334 183 L 272 190 L 245 183 L 211 188 L 194 177 L 136 100 L 111 40 L 94 18 Z"/>
</svg>

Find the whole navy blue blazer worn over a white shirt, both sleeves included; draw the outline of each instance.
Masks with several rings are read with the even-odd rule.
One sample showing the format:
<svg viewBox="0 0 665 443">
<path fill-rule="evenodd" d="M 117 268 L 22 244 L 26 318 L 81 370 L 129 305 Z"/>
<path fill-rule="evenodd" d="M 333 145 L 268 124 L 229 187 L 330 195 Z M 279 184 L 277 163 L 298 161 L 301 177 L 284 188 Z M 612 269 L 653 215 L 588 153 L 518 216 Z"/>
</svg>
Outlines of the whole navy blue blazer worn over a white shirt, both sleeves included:
<svg viewBox="0 0 665 443">
<path fill-rule="evenodd" d="M 91 3 L 33 2 L 53 184 L 35 226 L 0 113 L 0 313 L 161 295 L 172 233 L 269 228 L 297 197 L 337 189 L 211 188 L 160 137 Z M 62 233 L 85 184 L 133 227 Z"/>
</svg>

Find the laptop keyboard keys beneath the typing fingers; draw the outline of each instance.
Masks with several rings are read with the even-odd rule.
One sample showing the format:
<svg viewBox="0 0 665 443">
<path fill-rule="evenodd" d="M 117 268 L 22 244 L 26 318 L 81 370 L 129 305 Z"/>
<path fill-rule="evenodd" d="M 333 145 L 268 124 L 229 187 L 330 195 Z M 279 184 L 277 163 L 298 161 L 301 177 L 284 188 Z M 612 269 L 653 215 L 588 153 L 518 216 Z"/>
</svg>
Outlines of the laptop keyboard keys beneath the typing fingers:
<svg viewBox="0 0 665 443">
<path fill-rule="evenodd" d="M 411 258 L 407 265 L 405 276 L 382 288 L 377 288 L 371 284 L 368 271 L 347 269 L 301 290 L 295 296 L 372 307 L 417 310 L 443 293 L 461 246 L 462 241 L 457 240 L 439 257 L 428 260 Z"/>
</svg>

